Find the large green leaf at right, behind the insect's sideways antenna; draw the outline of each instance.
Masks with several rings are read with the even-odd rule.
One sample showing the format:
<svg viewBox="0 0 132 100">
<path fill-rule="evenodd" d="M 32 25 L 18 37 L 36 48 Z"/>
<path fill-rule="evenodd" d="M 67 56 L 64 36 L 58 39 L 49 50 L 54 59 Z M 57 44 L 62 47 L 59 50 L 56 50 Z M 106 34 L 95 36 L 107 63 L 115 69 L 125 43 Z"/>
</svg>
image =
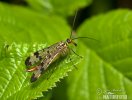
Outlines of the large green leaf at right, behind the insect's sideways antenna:
<svg viewBox="0 0 132 100">
<path fill-rule="evenodd" d="M 68 77 L 69 100 L 103 99 L 108 92 L 132 99 L 132 11 L 116 10 L 87 20 L 79 28 L 79 70 Z"/>
</svg>

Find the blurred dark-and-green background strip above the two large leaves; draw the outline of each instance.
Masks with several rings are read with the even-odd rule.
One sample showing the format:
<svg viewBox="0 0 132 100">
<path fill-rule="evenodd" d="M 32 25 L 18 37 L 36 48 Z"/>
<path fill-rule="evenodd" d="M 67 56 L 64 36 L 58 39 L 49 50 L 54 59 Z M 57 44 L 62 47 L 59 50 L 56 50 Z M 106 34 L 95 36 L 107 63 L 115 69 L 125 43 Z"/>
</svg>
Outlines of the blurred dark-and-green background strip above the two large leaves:
<svg viewBox="0 0 132 100">
<path fill-rule="evenodd" d="M 48 10 L 51 12 L 53 11 L 53 13 L 54 13 L 54 11 L 57 10 L 57 9 L 54 9 L 55 7 L 54 8 L 51 7 L 50 2 L 52 3 L 52 0 L 42 0 L 42 1 L 41 0 L 38 0 L 38 1 L 37 0 L 33 0 L 33 1 L 32 0 L 1 0 L 1 1 L 11 4 L 11 5 L 30 7 L 30 9 L 35 9 L 38 11 L 40 11 L 40 9 L 41 9 L 41 11 L 43 11 L 44 13 L 45 13 L 45 10 Z M 56 0 L 53 0 L 53 3 L 55 1 Z M 59 0 L 57 0 L 57 2 L 58 1 Z M 64 2 L 64 3 L 61 3 L 61 2 Z M 67 6 L 67 5 L 65 5 L 65 1 L 61 1 L 61 2 L 58 4 L 58 6 L 60 6 L 60 8 L 61 8 L 61 6 Z M 67 2 L 69 2 L 69 1 L 67 1 Z M 106 0 L 84 0 L 83 2 L 85 2 L 86 4 L 83 5 L 82 7 L 75 6 L 74 2 L 75 2 L 74 0 L 73 0 L 73 2 L 71 0 L 71 2 L 69 2 L 69 5 L 73 6 L 72 9 L 74 12 L 75 12 L 75 10 L 78 10 L 75 28 L 77 26 L 79 26 L 85 19 L 87 19 L 91 16 L 94 16 L 94 15 L 97 15 L 100 13 L 106 13 L 108 11 L 111 11 L 114 9 L 119 9 L 119 8 L 128 8 L 128 9 L 132 8 L 131 0 L 125 0 L 125 1 L 124 0 L 107 0 L 107 1 Z M 61 5 L 61 4 L 63 4 L 63 5 Z M 80 2 L 80 4 L 81 4 L 81 2 Z M 73 11 L 68 11 L 68 12 L 72 12 L 72 13 L 65 16 L 67 18 L 67 21 L 70 23 L 70 25 L 72 25 L 72 22 L 73 22 L 73 17 L 74 17 Z M 57 11 L 57 14 L 63 15 L 63 14 L 67 14 L 68 12 Z"/>
</svg>

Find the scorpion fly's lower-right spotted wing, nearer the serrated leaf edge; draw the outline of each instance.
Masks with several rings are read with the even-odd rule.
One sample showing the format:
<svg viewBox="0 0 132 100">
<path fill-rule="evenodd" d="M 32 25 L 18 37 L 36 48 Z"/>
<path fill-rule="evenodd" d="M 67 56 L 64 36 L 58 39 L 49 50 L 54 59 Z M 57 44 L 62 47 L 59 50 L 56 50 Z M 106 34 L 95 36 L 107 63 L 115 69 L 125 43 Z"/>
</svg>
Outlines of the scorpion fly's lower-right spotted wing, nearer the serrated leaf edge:
<svg viewBox="0 0 132 100">
<path fill-rule="evenodd" d="M 43 59 L 38 66 L 36 66 L 37 70 L 33 72 L 33 75 L 30 80 L 31 82 L 36 81 L 41 76 L 42 72 L 46 70 L 51 63 L 56 61 L 59 56 L 67 53 L 68 48 L 65 43 L 59 43 L 57 47 L 52 52 L 48 53 L 46 55 L 46 58 Z"/>
</svg>

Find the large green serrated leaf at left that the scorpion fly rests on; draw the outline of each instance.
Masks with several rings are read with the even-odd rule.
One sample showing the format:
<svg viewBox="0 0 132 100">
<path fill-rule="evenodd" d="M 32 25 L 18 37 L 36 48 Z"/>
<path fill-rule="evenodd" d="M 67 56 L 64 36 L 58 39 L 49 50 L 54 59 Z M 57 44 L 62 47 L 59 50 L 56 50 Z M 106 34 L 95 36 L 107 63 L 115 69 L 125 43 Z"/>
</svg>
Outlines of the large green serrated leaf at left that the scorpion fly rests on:
<svg viewBox="0 0 132 100">
<path fill-rule="evenodd" d="M 65 40 L 70 29 L 64 19 L 0 3 L 0 99 L 28 100 L 41 97 L 74 67 L 60 59 L 34 83 L 25 70 L 25 59 L 36 50 Z M 74 64 L 79 58 L 72 56 Z"/>
</svg>

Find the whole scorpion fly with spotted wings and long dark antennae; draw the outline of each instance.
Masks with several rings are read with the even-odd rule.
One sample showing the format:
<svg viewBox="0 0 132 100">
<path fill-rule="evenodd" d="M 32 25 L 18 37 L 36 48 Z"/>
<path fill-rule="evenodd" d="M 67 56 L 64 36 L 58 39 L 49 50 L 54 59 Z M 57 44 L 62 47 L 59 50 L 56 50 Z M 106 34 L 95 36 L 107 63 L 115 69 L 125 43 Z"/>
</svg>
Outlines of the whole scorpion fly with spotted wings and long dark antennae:
<svg viewBox="0 0 132 100">
<path fill-rule="evenodd" d="M 76 16 L 77 16 L 77 11 L 73 20 L 72 30 L 74 27 Z M 78 37 L 78 38 L 87 38 L 87 37 Z M 33 72 L 30 81 L 31 82 L 36 81 L 41 76 L 42 72 L 47 70 L 47 68 L 53 62 L 55 62 L 60 56 L 65 56 L 66 54 L 68 54 L 68 52 L 72 50 L 71 48 L 69 48 L 69 44 L 73 44 L 77 46 L 74 40 L 78 38 L 72 38 L 72 31 L 71 31 L 70 38 L 66 39 L 66 41 L 57 42 L 47 48 L 36 51 L 32 56 L 27 57 L 27 59 L 25 60 L 26 66 L 33 66 L 34 64 L 37 64 L 36 66 L 27 69 L 27 72 Z"/>
</svg>

